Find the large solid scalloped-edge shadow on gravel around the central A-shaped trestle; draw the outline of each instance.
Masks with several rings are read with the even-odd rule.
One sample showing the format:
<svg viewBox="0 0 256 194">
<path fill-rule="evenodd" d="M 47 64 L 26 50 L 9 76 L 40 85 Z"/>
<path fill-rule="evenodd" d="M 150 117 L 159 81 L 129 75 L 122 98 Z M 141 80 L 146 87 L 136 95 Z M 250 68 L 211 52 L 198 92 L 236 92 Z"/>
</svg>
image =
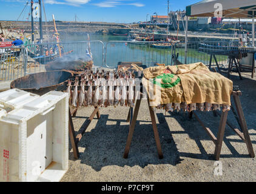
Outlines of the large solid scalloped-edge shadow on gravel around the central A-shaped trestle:
<svg viewBox="0 0 256 194">
<path fill-rule="evenodd" d="M 129 157 L 123 158 L 126 138 L 129 132 L 129 125 L 120 125 L 125 120 L 109 119 L 108 115 L 101 115 L 95 129 L 86 132 L 79 142 L 79 147 L 84 147 L 84 153 L 80 153 L 79 159 L 82 164 L 92 166 L 96 171 L 104 166 L 140 166 L 148 164 L 171 164 L 175 166 L 181 159 L 177 147 L 170 134 L 168 125 L 158 125 L 161 147 L 164 158 L 159 159 L 152 126 L 136 122 L 133 133 L 132 145 Z M 116 121 L 115 125 L 107 125 L 107 121 Z M 145 121 L 143 121 L 145 122 Z M 147 122 L 147 121 L 146 121 Z"/>
</svg>

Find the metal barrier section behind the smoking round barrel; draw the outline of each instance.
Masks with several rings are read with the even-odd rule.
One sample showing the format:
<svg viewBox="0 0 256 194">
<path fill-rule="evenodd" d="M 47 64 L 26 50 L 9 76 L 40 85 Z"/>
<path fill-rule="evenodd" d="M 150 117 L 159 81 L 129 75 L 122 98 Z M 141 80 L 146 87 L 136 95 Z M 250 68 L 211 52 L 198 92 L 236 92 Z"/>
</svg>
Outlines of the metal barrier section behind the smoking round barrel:
<svg viewBox="0 0 256 194">
<path fill-rule="evenodd" d="M 89 46 L 90 45 L 90 46 Z M 104 65 L 104 43 L 102 41 L 79 41 L 29 44 L 25 48 L 28 52 L 28 68 L 26 73 L 44 72 L 44 65 L 53 59 L 68 55 L 72 58 L 84 58 L 92 53 L 93 62 L 96 66 Z M 87 50 L 90 48 L 90 50 Z"/>
</svg>

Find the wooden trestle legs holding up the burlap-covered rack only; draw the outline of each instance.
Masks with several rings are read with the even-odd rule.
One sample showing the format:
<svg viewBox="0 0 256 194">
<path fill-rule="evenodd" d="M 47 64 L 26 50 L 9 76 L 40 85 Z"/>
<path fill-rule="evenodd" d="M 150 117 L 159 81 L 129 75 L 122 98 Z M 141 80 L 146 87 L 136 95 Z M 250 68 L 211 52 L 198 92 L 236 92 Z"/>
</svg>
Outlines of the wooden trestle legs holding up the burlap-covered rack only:
<svg viewBox="0 0 256 194">
<path fill-rule="evenodd" d="M 222 112 L 221 114 L 217 111 L 214 111 L 214 115 L 220 115 L 220 125 L 218 127 L 218 136 L 217 136 L 217 138 L 215 137 L 214 133 L 212 133 L 212 131 L 208 127 L 205 127 L 204 123 L 198 118 L 195 111 L 192 111 L 192 112 L 189 113 L 189 118 L 192 118 L 192 115 L 195 115 L 195 118 L 197 118 L 198 122 L 201 124 L 203 129 L 206 130 L 207 134 L 210 136 L 210 138 L 214 142 L 214 144 L 215 144 L 214 156 L 215 156 L 216 160 L 220 159 L 220 152 L 221 152 L 221 147 L 222 147 L 222 142 L 223 142 L 223 138 L 224 138 L 224 131 L 225 131 L 225 128 L 226 128 L 226 124 L 229 125 L 229 127 L 231 127 L 231 129 L 233 129 L 235 131 L 235 133 L 237 133 L 237 135 L 246 143 L 249 155 L 252 158 L 255 157 L 254 149 L 252 147 L 252 142 L 251 142 L 249 132 L 248 132 L 248 128 L 247 128 L 247 124 L 246 124 L 246 120 L 244 118 L 243 109 L 241 107 L 241 101 L 240 101 L 240 98 L 239 98 L 240 95 L 241 95 L 240 91 L 232 92 L 232 96 L 234 98 L 235 107 L 237 109 L 238 116 L 234 112 L 234 107 L 231 107 L 231 109 L 232 109 L 233 113 L 235 114 L 235 116 L 237 118 L 237 121 L 238 121 L 238 124 L 240 125 L 241 130 L 243 132 L 241 132 L 239 129 L 235 129 L 235 127 L 233 127 L 232 124 L 230 124 L 227 121 L 227 113 L 229 111 Z M 132 108 L 130 108 L 130 111 L 129 111 L 127 122 L 130 121 L 130 126 L 129 126 L 129 135 L 127 137 L 127 142 L 126 142 L 126 149 L 124 150 L 124 158 L 127 158 L 128 154 L 129 154 L 130 144 L 132 142 L 132 136 L 133 136 L 133 132 L 134 132 L 134 129 L 135 129 L 135 123 L 136 123 L 136 119 L 137 119 L 137 116 L 138 116 L 138 111 L 140 109 L 140 104 L 141 104 L 141 99 L 138 99 L 136 101 L 134 113 L 132 113 L 133 112 Z M 149 105 L 149 99 L 147 99 L 147 104 Z M 162 153 L 162 150 L 161 150 L 160 138 L 159 138 L 159 135 L 158 135 L 158 129 L 157 129 L 157 124 L 156 124 L 156 119 L 155 119 L 155 112 L 152 109 L 152 107 L 150 107 L 150 106 L 149 106 L 149 112 L 150 112 L 150 117 L 151 117 L 151 121 L 152 121 L 153 132 L 154 132 L 154 135 L 155 135 L 155 142 L 157 144 L 158 156 L 161 159 L 161 158 L 163 158 L 163 153 Z"/>
</svg>

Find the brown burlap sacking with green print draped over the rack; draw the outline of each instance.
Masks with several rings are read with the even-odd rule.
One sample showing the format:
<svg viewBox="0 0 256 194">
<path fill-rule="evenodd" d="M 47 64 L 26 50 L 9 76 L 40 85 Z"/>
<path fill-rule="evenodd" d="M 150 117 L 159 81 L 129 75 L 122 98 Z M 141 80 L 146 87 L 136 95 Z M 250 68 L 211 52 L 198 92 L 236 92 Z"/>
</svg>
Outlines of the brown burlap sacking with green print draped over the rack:
<svg viewBox="0 0 256 194">
<path fill-rule="evenodd" d="M 143 85 L 152 106 L 172 102 L 231 105 L 233 82 L 220 73 L 211 72 L 201 62 L 149 67 L 143 73 Z"/>
</svg>

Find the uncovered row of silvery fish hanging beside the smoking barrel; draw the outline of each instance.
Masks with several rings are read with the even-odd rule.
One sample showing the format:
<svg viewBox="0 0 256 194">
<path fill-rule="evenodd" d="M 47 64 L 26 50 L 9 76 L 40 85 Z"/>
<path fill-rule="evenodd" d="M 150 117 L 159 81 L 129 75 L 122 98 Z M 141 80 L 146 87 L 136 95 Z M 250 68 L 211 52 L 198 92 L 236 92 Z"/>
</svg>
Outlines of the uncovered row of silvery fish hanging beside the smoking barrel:
<svg viewBox="0 0 256 194">
<path fill-rule="evenodd" d="M 90 105 L 107 107 L 109 105 L 134 106 L 135 75 L 133 72 L 86 72 L 69 79 L 66 92 L 72 107 Z M 128 87 L 128 89 L 127 89 Z"/>
</svg>

